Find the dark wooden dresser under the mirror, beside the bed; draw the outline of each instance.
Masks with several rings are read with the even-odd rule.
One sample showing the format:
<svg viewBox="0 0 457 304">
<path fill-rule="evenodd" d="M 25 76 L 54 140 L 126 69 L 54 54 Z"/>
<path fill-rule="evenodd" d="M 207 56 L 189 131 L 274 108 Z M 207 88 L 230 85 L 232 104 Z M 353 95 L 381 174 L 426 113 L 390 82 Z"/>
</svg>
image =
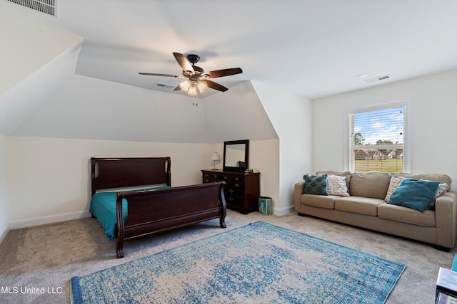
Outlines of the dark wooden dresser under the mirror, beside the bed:
<svg viewBox="0 0 457 304">
<path fill-rule="evenodd" d="M 260 196 L 260 173 L 221 170 L 201 170 L 203 183 L 226 182 L 224 194 L 227 208 L 248 214 L 258 211 Z"/>
</svg>

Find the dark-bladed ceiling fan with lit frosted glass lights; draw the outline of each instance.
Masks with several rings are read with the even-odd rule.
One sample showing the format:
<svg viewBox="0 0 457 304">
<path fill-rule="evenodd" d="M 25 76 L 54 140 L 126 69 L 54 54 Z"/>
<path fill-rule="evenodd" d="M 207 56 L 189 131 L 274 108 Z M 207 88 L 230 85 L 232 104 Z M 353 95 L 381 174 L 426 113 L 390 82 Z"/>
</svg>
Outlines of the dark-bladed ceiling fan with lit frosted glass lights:
<svg viewBox="0 0 457 304">
<path fill-rule="evenodd" d="M 205 72 L 203 68 L 196 66 L 195 63 L 198 63 L 200 56 L 195 54 L 189 54 L 186 58 L 181 53 L 173 53 L 174 58 L 178 61 L 179 65 L 183 69 L 183 75 L 171 75 L 171 74 L 159 74 L 159 73 L 139 73 L 140 75 L 151 75 L 151 76 L 163 76 L 163 77 L 174 77 L 174 78 L 187 78 L 186 81 L 180 83 L 174 90 L 184 90 L 189 95 L 197 95 L 197 89 L 200 93 L 204 93 L 207 88 L 212 88 L 214 90 L 219 90 L 225 92 L 229 90 L 215 83 L 214 81 L 209 80 L 208 78 L 219 78 L 224 76 L 236 75 L 243 73 L 241 68 L 226 68 L 224 70 L 211 70 L 210 72 Z"/>
</svg>

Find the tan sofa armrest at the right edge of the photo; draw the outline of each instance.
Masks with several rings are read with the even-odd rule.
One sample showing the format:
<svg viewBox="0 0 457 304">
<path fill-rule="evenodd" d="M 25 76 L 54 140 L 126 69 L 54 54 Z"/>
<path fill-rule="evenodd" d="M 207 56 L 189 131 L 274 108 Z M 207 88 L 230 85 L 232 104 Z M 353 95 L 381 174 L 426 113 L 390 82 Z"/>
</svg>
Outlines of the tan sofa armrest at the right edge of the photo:
<svg viewBox="0 0 457 304">
<path fill-rule="evenodd" d="M 438 196 L 435 204 L 437 245 L 453 248 L 457 238 L 457 192 Z"/>
</svg>

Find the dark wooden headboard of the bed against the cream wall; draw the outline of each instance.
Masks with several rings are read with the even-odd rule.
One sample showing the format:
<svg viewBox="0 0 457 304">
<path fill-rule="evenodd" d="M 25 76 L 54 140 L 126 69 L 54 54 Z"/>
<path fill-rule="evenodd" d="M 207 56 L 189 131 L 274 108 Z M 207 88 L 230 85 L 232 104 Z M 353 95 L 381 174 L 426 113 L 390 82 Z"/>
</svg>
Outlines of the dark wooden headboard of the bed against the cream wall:
<svg viewBox="0 0 457 304">
<path fill-rule="evenodd" d="M 171 187 L 170 157 L 91 157 L 92 195 L 98 189 L 167 184 Z"/>
</svg>

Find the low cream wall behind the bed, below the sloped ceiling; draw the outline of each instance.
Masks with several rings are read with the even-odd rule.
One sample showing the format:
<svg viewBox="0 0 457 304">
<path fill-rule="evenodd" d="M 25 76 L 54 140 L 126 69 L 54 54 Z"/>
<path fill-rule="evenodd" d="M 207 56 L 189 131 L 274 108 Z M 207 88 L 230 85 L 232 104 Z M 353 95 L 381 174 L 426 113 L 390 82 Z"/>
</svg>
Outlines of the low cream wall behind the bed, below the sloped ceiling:
<svg viewBox="0 0 457 304">
<path fill-rule="evenodd" d="M 172 186 L 201 183 L 200 170 L 209 167 L 208 144 L 40 137 L 7 142 L 11 229 L 89 216 L 90 157 L 169 156 Z"/>
</svg>

